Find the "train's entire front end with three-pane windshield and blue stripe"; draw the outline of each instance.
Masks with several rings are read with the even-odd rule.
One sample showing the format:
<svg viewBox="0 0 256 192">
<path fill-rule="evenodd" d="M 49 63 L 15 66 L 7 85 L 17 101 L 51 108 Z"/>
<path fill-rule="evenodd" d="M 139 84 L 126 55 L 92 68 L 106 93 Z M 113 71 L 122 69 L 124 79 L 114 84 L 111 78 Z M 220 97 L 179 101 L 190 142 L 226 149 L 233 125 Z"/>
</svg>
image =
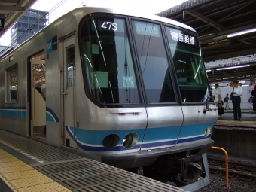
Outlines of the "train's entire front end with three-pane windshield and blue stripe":
<svg viewBox="0 0 256 192">
<path fill-rule="evenodd" d="M 207 102 L 194 29 L 161 17 L 90 14 L 78 35 L 87 99 L 77 106 L 78 147 L 112 166 L 161 172 L 178 186 L 190 178 L 202 178 L 192 189 L 208 184 L 218 114 Z"/>
</svg>

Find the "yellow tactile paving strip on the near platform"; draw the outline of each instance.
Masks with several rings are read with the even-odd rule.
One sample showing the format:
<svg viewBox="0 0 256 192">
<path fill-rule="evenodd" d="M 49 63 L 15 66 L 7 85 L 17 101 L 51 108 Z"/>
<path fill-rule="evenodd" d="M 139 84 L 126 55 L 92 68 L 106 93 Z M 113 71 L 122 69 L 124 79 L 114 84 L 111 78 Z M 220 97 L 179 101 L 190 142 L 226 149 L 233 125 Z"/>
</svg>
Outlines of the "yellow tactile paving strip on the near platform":
<svg viewBox="0 0 256 192">
<path fill-rule="evenodd" d="M 0 148 L 0 176 L 13 191 L 71 191 Z"/>
</svg>

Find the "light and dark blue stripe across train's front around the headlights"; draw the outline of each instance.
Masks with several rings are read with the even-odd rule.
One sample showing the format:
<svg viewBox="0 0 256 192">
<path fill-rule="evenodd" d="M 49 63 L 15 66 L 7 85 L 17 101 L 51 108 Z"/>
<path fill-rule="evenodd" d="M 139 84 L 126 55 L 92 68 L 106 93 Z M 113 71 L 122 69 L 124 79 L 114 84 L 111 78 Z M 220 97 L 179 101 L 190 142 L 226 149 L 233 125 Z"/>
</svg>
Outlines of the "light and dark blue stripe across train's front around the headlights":
<svg viewBox="0 0 256 192">
<path fill-rule="evenodd" d="M 144 139 L 144 143 L 142 148 L 154 148 L 154 147 L 161 147 L 166 145 L 175 145 L 177 142 L 185 143 L 185 142 L 194 142 L 201 139 L 210 138 L 209 136 L 205 137 L 204 133 L 206 127 L 209 124 L 214 125 L 214 123 L 203 123 L 200 125 L 187 125 L 184 126 L 184 130 L 188 133 L 180 134 L 180 137 L 177 142 L 178 137 L 178 126 L 171 126 L 171 127 L 158 127 L 158 128 L 150 128 L 146 132 L 146 136 Z M 73 128 L 69 129 L 66 126 L 66 130 L 68 131 L 69 135 L 72 136 Z M 183 129 L 182 129 L 183 130 Z M 127 149 L 136 149 L 139 148 L 142 143 L 142 137 L 144 135 L 145 129 L 137 129 L 137 130 L 84 130 L 80 128 L 75 128 L 75 142 L 77 142 L 78 146 L 86 151 L 119 151 L 119 150 L 127 150 Z M 181 131 L 182 133 L 183 131 Z M 123 138 L 128 133 L 137 133 L 139 136 L 139 140 L 137 145 L 133 148 L 124 148 L 122 146 Z M 115 148 L 104 148 L 102 146 L 102 140 L 105 136 L 109 134 L 117 134 L 120 136 L 120 142 Z M 190 134 L 190 135 L 189 135 Z M 147 138 L 147 139 L 146 139 Z M 93 146 L 94 145 L 94 146 Z"/>
</svg>

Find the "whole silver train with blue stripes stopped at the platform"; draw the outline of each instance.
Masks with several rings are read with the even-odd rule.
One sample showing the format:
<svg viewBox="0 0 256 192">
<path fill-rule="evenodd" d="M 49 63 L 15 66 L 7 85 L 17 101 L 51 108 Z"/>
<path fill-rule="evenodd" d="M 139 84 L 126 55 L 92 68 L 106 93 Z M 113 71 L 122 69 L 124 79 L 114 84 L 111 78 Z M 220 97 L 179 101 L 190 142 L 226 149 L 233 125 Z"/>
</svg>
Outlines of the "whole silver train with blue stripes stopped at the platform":
<svg viewBox="0 0 256 192">
<path fill-rule="evenodd" d="M 114 8 L 76 8 L 0 60 L 1 129 L 178 186 L 200 176 L 190 190 L 209 184 L 208 96 L 194 29 Z"/>
</svg>

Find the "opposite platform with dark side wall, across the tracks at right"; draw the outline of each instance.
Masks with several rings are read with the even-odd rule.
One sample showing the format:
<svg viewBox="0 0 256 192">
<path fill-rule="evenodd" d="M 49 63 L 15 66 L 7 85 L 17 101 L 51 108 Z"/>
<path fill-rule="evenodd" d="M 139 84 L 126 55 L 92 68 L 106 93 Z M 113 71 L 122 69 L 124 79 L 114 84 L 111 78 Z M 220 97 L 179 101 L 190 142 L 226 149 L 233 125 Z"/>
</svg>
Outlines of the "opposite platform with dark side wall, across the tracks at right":
<svg viewBox="0 0 256 192">
<path fill-rule="evenodd" d="M 242 110 L 241 120 L 233 120 L 233 111 L 225 110 L 218 117 L 212 133 L 214 146 L 224 148 L 229 156 L 256 160 L 256 112 Z M 210 150 L 215 154 L 222 151 Z"/>
</svg>

